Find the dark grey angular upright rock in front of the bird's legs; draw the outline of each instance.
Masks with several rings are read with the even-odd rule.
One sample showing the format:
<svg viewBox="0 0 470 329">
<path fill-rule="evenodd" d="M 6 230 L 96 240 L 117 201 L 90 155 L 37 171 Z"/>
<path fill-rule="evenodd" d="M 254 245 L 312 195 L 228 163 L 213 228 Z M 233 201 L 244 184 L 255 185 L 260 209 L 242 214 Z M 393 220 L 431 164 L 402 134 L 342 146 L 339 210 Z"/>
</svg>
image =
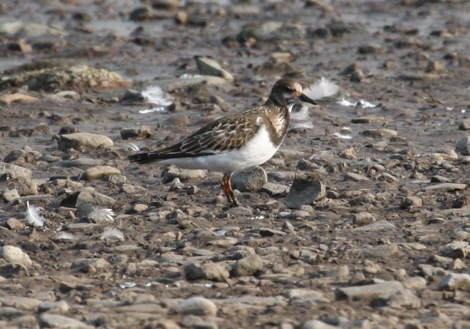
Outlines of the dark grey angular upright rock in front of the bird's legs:
<svg viewBox="0 0 470 329">
<path fill-rule="evenodd" d="M 325 197 L 326 189 L 321 181 L 315 175 L 303 174 L 294 178 L 284 204 L 291 209 L 297 209 Z"/>
</svg>

